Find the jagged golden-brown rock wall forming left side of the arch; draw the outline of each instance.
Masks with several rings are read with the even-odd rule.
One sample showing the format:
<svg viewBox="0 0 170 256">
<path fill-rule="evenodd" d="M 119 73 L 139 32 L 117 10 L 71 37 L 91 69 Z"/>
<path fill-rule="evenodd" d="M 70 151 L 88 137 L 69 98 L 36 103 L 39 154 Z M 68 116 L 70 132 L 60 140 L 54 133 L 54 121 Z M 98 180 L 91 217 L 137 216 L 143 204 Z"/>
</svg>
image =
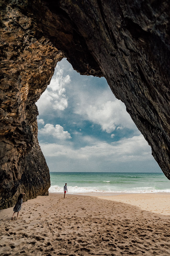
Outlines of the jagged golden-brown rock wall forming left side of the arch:
<svg viewBox="0 0 170 256">
<path fill-rule="evenodd" d="M 48 195 L 49 169 L 37 139 L 35 102 L 63 55 L 19 8 L 1 1 L 0 206 Z M 31 151 L 30 151 L 31 150 Z"/>
</svg>

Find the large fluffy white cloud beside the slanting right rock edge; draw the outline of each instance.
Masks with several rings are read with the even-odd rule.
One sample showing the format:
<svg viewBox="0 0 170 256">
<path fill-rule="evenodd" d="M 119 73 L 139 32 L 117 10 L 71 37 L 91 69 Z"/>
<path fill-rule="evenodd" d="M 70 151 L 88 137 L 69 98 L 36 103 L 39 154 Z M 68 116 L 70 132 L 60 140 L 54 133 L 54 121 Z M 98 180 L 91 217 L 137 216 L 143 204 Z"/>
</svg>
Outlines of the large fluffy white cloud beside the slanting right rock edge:
<svg viewBox="0 0 170 256">
<path fill-rule="evenodd" d="M 117 100 L 110 91 L 105 91 L 102 95 L 93 95 L 93 98 L 88 93 L 83 93 L 75 113 L 82 115 L 85 120 L 100 125 L 107 133 L 113 132 L 116 127 L 138 130 L 127 113 L 124 103 Z"/>
</svg>

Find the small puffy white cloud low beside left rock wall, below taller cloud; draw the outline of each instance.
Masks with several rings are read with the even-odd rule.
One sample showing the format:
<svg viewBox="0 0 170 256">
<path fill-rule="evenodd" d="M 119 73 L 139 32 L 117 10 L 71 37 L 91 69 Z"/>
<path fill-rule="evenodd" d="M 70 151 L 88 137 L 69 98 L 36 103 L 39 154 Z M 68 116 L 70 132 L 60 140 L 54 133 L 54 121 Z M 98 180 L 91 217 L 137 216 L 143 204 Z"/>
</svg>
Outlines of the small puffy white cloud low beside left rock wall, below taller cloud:
<svg viewBox="0 0 170 256">
<path fill-rule="evenodd" d="M 46 124 L 44 128 L 40 129 L 38 132 L 40 135 L 50 135 L 57 139 L 71 139 L 70 133 L 64 131 L 63 127 L 59 124 L 56 124 L 55 127 L 53 124 Z"/>
</svg>

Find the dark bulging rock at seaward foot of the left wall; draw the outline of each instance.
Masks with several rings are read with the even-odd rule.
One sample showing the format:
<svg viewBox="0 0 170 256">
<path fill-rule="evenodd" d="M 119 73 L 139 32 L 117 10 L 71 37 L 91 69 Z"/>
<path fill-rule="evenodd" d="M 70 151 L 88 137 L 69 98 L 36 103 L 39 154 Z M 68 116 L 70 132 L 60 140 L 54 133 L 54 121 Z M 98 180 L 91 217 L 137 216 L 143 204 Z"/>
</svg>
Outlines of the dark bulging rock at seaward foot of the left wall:
<svg viewBox="0 0 170 256">
<path fill-rule="evenodd" d="M 17 194 L 20 191 L 26 191 L 26 199 L 48 195 L 48 189 L 50 187 L 49 169 L 37 139 L 37 121 L 31 125 L 31 132 L 33 134 L 33 147 L 21 161 L 21 169 L 24 171 L 17 189 Z M 20 191 L 18 191 L 19 189 Z M 14 196 L 18 197 L 16 194 Z"/>
</svg>

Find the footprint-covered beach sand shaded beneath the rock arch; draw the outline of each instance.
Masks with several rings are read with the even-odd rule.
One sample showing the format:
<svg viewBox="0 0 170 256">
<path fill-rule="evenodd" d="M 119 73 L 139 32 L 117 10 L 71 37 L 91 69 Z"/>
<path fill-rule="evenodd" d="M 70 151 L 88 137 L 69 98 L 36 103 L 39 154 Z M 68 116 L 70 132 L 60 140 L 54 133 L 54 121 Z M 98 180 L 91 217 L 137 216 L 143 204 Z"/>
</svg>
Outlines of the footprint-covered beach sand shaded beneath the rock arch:
<svg viewBox="0 0 170 256">
<path fill-rule="evenodd" d="M 38 196 L 13 221 L 13 208 L 1 210 L 0 255 L 170 255 L 170 216 L 108 199 Z"/>
</svg>

